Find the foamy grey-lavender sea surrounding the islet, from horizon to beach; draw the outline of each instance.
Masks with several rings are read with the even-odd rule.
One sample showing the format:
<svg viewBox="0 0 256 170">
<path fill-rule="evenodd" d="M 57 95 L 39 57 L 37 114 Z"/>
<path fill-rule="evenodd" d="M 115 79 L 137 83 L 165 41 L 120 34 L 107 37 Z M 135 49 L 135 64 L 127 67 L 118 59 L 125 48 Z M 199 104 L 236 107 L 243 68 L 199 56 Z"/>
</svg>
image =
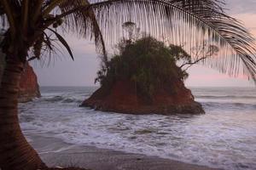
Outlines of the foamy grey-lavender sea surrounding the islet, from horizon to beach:
<svg viewBox="0 0 256 170">
<path fill-rule="evenodd" d="M 41 98 L 19 105 L 20 126 L 27 136 L 37 133 L 67 144 L 227 170 L 256 169 L 256 88 L 190 89 L 206 114 L 94 111 L 79 105 L 96 87 L 42 87 Z"/>
</svg>

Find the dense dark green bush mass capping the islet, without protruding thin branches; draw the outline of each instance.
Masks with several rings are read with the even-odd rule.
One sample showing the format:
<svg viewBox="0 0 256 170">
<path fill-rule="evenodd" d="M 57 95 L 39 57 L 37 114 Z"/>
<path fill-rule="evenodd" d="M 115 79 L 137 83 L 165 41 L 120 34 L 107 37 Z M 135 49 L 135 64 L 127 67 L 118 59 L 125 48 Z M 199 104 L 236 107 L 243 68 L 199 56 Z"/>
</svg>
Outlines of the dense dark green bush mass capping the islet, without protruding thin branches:
<svg viewBox="0 0 256 170">
<path fill-rule="evenodd" d="M 170 87 L 177 79 L 188 77 L 176 64 L 180 59 L 190 61 L 189 54 L 179 46 L 167 47 L 153 37 L 143 37 L 135 42 L 122 40 L 118 49 L 119 54 L 113 55 L 108 68 L 98 71 L 96 81 L 104 87 L 111 88 L 119 80 L 130 80 L 139 94 L 150 99 L 157 88 Z"/>
</svg>

